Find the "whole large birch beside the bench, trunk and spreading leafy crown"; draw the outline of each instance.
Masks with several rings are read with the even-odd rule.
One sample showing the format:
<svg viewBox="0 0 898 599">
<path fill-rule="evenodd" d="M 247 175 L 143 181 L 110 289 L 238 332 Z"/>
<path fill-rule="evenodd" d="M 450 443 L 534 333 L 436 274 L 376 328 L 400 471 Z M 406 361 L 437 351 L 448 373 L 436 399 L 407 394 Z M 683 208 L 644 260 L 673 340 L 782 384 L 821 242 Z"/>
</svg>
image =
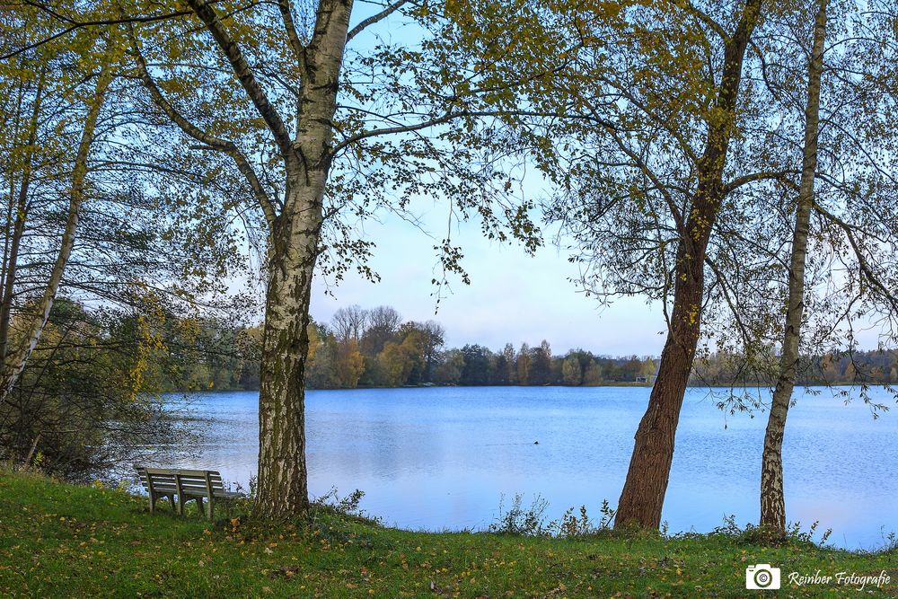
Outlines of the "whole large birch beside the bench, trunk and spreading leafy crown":
<svg viewBox="0 0 898 599">
<path fill-rule="evenodd" d="M 529 203 L 514 198 L 526 147 L 508 132 L 530 114 L 518 88 L 557 72 L 583 42 L 501 3 L 400 0 L 359 16 L 351 0 L 184 5 L 188 14 L 147 8 L 119 20 L 132 26 L 136 74 L 180 130 L 180 152 L 213 154 L 239 173 L 251 198 L 244 206 L 265 224 L 256 513 L 296 515 L 308 503 L 304 388 L 316 268 L 339 279 L 356 265 L 376 277 L 364 262 L 373 243 L 354 223 L 421 197 L 445 198 L 450 222 L 476 215 L 489 237 L 514 236 L 533 250 Z M 496 18 L 503 14 L 515 18 Z M 488 23 L 477 36 L 474 15 L 494 17 L 477 21 Z M 389 21 L 409 25 L 413 39 L 370 33 Z M 367 46 L 353 49 L 360 39 Z M 533 40 L 557 51 L 533 56 Z M 511 80 L 494 67 L 506 53 L 529 56 Z M 435 250 L 445 271 L 461 272 L 451 233 Z"/>
</svg>

